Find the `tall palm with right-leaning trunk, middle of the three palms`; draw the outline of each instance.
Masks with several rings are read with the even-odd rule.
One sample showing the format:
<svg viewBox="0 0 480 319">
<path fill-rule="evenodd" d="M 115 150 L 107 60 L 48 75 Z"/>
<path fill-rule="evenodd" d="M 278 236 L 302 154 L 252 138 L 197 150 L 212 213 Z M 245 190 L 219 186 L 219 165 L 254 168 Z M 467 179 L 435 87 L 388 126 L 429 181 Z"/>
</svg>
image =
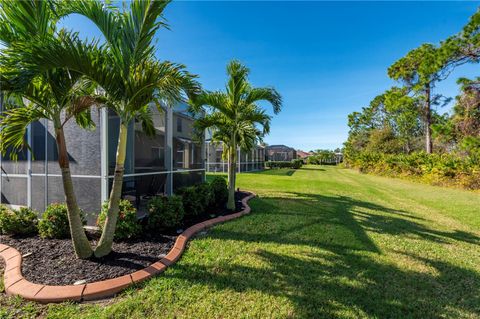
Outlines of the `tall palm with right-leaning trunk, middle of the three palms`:
<svg viewBox="0 0 480 319">
<path fill-rule="evenodd" d="M 96 82 L 104 91 L 106 105 L 120 118 L 115 173 L 109 208 L 95 256 L 111 252 L 122 192 L 128 125 L 135 118 L 145 128 L 151 126 L 149 104 L 174 101 L 199 91 L 199 85 L 183 65 L 154 57 L 153 38 L 165 26 L 163 10 L 169 1 L 133 0 L 123 11 L 100 1 L 62 2 L 59 16 L 80 14 L 90 19 L 101 31 L 104 43 L 86 43 L 78 34 L 63 32 L 58 41 L 35 43 L 11 52 L 27 70 L 68 68 Z M 127 4 L 123 8 L 128 7 Z"/>
</svg>

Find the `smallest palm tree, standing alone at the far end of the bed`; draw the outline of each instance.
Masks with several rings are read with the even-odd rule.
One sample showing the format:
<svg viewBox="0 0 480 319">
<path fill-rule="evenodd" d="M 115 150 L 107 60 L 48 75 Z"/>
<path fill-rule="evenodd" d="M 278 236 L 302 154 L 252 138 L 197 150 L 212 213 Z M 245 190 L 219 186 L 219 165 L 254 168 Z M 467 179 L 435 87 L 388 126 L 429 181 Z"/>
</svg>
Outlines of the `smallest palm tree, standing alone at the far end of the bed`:
<svg viewBox="0 0 480 319">
<path fill-rule="evenodd" d="M 227 208 L 231 210 L 235 209 L 237 149 L 251 150 L 270 130 L 271 117 L 257 103 L 269 102 L 275 114 L 282 106 L 282 98 L 275 89 L 250 85 L 249 72 L 248 68 L 233 60 L 227 66 L 229 79 L 225 92 L 204 92 L 191 101 L 194 111 L 200 112 L 204 107 L 211 111 L 197 120 L 197 129 L 210 129 L 212 141 L 223 143 L 224 155 L 228 158 Z"/>
</svg>

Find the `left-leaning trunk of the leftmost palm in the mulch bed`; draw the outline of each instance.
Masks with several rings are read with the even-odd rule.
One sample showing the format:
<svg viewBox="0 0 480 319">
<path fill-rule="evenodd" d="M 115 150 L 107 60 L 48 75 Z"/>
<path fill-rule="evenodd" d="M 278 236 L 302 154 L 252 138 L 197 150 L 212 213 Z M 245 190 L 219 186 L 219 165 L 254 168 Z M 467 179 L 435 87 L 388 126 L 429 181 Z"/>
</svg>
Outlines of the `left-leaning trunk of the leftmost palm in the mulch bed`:
<svg viewBox="0 0 480 319">
<path fill-rule="evenodd" d="M 73 248 L 78 258 L 86 259 L 92 256 L 93 250 L 83 229 L 82 219 L 80 218 L 80 209 L 78 208 L 77 198 L 75 197 L 73 189 L 63 128 L 56 128 L 55 134 L 58 148 L 58 164 L 62 171 L 63 191 L 65 193 L 65 201 L 67 202 L 68 224 L 70 226 Z"/>
</svg>

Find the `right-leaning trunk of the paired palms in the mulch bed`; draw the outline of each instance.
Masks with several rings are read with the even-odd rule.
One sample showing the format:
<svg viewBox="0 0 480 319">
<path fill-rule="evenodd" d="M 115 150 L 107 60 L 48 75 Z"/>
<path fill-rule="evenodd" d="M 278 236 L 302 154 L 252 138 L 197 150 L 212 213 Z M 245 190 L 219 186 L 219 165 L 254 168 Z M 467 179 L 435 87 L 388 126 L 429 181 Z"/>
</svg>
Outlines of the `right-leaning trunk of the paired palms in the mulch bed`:
<svg viewBox="0 0 480 319">
<path fill-rule="evenodd" d="M 117 226 L 120 197 L 122 196 L 123 173 L 125 171 L 125 155 L 127 150 L 127 131 L 128 127 L 120 124 L 118 135 L 117 159 L 115 163 L 115 175 L 113 177 L 112 191 L 108 203 L 108 213 L 105 219 L 102 236 L 95 248 L 95 257 L 103 257 L 112 251 L 113 236 Z"/>
</svg>

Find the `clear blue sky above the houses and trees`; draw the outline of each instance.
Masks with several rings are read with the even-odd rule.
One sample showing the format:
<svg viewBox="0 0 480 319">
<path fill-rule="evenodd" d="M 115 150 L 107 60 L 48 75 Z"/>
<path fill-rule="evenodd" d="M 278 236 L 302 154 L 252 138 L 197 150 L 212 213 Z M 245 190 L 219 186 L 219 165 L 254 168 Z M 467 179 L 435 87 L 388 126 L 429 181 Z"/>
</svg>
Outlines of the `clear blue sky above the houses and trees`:
<svg viewBox="0 0 480 319">
<path fill-rule="evenodd" d="M 225 65 L 239 59 L 253 85 L 274 86 L 283 96 L 267 143 L 333 149 L 347 138 L 347 115 L 394 84 L 388 66 L 424 42 L 457 33 L 478 4 L 173 2 L 165 11 L 171 30 L 159 31 L 157 55 L 186 64 L 208 90 L 223 89 Z M 82 18 L 65 25 L 98 36 Z M 458 68 L 436 91 L 455 96 L 456 79 L 478 75 L 476 68 Z"/>
</svg>

